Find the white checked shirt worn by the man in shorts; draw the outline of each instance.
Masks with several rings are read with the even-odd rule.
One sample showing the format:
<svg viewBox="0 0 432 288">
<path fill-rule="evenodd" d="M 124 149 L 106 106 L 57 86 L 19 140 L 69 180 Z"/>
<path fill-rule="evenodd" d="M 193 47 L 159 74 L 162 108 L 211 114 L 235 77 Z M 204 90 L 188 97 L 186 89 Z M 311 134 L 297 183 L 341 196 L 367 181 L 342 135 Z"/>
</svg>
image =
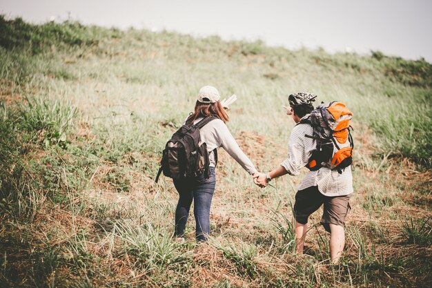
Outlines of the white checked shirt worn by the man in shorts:
<svg viewBox="0 0 432 288">
<path fill-rule="evenodd" d="M 300 169 L 308 164 L 309 157 L 316 147 L 315 140 L 304 135 L 313 135 L 313 128 L 308 124 L 296 125 L 288 140 L 288 157 L 281 166 L 290 175 L 298 175 Z M 335 170 L 322 167 L 317 171 L 309 171 L 298 190 L 318 186 L 318 190 L 326 196 L 341 196 L 353 193 L 353 175 L 351 166 L 346 167 L 342 174 Z"/>
</svg>

